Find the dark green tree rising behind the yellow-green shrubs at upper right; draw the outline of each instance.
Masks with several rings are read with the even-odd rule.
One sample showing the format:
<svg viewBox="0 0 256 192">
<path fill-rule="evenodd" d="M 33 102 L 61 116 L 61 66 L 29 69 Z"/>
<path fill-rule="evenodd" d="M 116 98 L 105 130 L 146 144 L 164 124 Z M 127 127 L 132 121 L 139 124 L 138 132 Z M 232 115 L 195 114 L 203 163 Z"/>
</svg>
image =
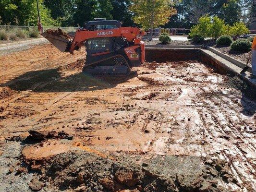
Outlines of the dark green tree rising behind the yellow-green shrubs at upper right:
<svg viewBox="0 0 256 192">
<path fill-rule="evenodd" d="M 224 3 L 221 8 L 220 18 L 225 21 L 226 24 L 234 24 L 239 22 L 241 15 L 241 9 L 237 3 L 237 0 L 229 0 Z"/>
</svg>

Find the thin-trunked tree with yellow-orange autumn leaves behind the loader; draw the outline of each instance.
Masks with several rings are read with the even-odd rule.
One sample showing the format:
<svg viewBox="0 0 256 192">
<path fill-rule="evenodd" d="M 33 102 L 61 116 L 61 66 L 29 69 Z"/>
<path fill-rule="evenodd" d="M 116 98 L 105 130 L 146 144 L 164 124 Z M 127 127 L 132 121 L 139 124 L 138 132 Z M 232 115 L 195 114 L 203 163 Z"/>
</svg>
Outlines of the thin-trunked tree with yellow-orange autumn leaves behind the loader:
<svg viewBox="0 0 256 192">
<path fill-rule="evenodd" d="M 150 28 L 152 39 L 153 28 L 168 23 L 171 15 L 177 13 L 172 3 L 172 0 L 134 0 L 130 7 L 134 23 L 141 24 L 144 29 Z"/>
</svg>

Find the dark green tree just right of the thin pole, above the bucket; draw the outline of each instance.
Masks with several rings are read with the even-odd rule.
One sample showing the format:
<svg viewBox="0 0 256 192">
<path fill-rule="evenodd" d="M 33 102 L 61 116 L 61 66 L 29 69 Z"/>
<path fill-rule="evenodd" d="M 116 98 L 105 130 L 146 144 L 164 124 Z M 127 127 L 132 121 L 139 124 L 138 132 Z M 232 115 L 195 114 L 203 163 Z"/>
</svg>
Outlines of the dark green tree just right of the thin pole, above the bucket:
<svg viewBox="0 0 256 192">
<path fill-rule="evenodd" d="M 59 21 L 61 26 L 73 24 L 75 0 L 44 0 L 44 5 L 50 10 L 52 18 Z"/>
</svg>

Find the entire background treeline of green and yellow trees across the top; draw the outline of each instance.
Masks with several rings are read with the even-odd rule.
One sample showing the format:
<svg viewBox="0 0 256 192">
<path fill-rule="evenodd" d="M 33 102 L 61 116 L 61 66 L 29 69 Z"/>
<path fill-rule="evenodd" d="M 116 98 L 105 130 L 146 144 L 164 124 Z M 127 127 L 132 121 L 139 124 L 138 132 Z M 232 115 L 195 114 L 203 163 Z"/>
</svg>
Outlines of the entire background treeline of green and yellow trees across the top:
<svg viewBox="0 0 256 192">
<path fill-rule="evenodd" d="M 145 28 L 191 28 L 199 18 L 218 16 L 225 24 L 255 20 L 254 0 L 39 0 L 43 25 L 77 26 L 96 17 Z M 37 25 L 36 0 L 0 0 L 0 23 Z"/>
</svg>

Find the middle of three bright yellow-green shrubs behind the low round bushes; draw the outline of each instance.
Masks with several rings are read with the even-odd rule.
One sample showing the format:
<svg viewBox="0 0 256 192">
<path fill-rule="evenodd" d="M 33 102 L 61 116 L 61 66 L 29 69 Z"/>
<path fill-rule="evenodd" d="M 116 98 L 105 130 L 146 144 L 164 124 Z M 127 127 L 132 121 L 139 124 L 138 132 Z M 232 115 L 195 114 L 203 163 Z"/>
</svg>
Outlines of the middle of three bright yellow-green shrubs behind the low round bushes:
<svg viewBox="0 0 256 192">
<path fill-rule="evenodd" d="M 213 17 L 209 28 L 210 37 L 217 39 L 219 36 L 225 34 L 225 29 L 224 21 L 219 19 L 217 16 Z"/>
</svg>

